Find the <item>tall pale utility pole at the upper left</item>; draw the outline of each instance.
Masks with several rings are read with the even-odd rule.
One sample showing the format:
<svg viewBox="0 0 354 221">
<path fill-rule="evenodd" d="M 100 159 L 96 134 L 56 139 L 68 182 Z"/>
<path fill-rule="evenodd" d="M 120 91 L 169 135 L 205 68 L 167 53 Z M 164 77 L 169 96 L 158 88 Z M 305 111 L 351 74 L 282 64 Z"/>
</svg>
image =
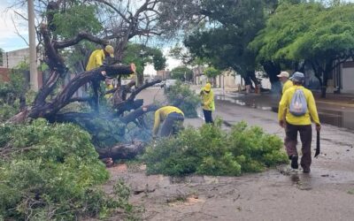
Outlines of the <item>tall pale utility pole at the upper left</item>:
<svg viewBox="0 0 354 221">
<path fill-rule="evenodd" d="M 29 81 L 31 89 L 38 91 L 37 51 L 35 47 L 35 5 L 28 0 L 28 38 L 29 38 Z"/>
</svg>

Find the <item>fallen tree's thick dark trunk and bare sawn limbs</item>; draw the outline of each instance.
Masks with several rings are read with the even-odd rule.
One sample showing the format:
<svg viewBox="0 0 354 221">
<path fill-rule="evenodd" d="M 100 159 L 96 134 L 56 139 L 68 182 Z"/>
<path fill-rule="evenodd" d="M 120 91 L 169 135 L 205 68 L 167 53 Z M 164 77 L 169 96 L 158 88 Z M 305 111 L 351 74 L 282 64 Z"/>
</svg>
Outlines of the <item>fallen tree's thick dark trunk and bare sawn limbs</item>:
<svg viewBox="0 0 354 221">
<path fill-rule="evenodd" d="M 135 99 L 143 89 L 149 88 L 154 84 L 160 82 L 155 80 L 143 84 L 134 91 L 131 88 L 135 85 L 131 82 L 127 85 L 119 85 L 111 91 L 100 93 L 100 82 L 105 78 L 114 78 L 123 75 L 128 75 L 135 72 L 135 65 L 102 65 L 96 69 L 88 72 L 81 72 L 65 84 L 58 94 L 54 95 L 54 90 L 58 88 L 60 79 L 64 79 L 67 74 L 64 58 L 61 57 L 60 50 L 66 47 L 73 46 L 74 44 L 86 40 L 98 44 L 106 45 L 108 42 L 105 39 L 96 38 L 88 33 L 79 33 L 73 39 L 66 39 L 59 42 L 57 38 L 53 37 L 47 25 L 42 25 L 40 34 L 42 36 L 45 63 L 49 66 L 50 75 L 42 88 L 35 96 L 35 101 L 13 116 L 8 122 L 19 124 L 27 120 L 27 118 L 45 118 L 50 123 L 56 122 L 70 122 L 80 125 L 93 137 L 93 143 L 96 146 L 97 152 L 100 157 L 116 158 L 131 158 L 140 153 L 143 148 L 142 142 L 133 142 L 131 144 L 122 144 L 122 141 L 127 141 L 125 138 L 128 123 L 137 122 L 139 118 L 147 111 L 142 111 L 142 99 Z M 79 88 L 90 84 L 92 88 L 92 95 L 88 97 L 74 97 Z M 113 95 L 113 105 L 111 110 L 104 110 L 100 112 L 99 100 L 100 96 L 109 93 Z M 129 96 L 127 96 L 130 93 Z M 89 112 L 63 112 L 62 110 L 70 103 L 90 103 L 91 111 Z M 148 109 L 155 110 L 155 109 Z M 124 116 L 124 113 L 129 113 Z M 100 121 L 99 124 L 97 122 Z M 136 124 L 139 126 L 139 124 Z M 109 130 L 107 130 L 109 128 Z M 101 133 L 105 131 L 105 134 Z M 102 150 L 100 150 L 102 149 Z M 110 156 L 112 155 L 112 156 Z"/>
</svg>

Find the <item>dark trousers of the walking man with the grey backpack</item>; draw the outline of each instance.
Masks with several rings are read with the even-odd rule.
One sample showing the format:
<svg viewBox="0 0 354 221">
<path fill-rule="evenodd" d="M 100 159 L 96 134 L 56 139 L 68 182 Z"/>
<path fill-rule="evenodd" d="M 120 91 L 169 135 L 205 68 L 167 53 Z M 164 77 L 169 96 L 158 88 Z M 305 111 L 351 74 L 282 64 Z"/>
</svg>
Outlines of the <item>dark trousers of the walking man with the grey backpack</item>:
<svg viewBox="0 0 354 221">
<path fill-rule="evenodd" d="M 306 126 L 296 126 L 296 125 L 290 125 L 287 122 L 287 127 L 286 127 L 286 148 L 287 148 L 287 153 L 288 156 L 297 156 L 297 150 L 296 150 L 296 143 L 297 143 L 297 132 L 300 133 L 300 140 L 302 143 L 302 153 L 303 156 L 301 157 L 301 166 L 304 169 L 310 169 L 310 165 L 312 162 L 311 158 L 311 142 L 312 142 L 312 126 L 311 125 L 306 125 Z"/>
</svg>

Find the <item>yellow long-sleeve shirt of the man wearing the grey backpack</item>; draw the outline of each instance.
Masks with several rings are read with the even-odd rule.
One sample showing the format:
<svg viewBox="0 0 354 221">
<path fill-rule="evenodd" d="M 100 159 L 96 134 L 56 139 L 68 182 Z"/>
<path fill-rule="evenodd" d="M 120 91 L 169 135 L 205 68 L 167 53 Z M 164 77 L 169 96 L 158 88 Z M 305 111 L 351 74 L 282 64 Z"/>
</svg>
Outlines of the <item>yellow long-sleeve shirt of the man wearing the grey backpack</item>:
<svg viewBox="0 0 354 221">
<path fill-rule="evenodd" d="M 307 112 L 304 116 L 296 117 L 289 112 L 289 104 L 291 98 L 296 92 L 296 89 L 302 89 L 304 91 L 304 96 L 307 102 Z M 286 120 L 291 125 L 311 125 L 311 118 L 316 123 L 319 124 L 319 114 L 317 113 L 315 99 L 313 98 L 312 92 L 303 86 L 293 86 L 285 91 L 281 96 L 281 103 L 279 103 L 278 120 L 284 118 L 284 113 L 286 112 Z"/>
</svg>

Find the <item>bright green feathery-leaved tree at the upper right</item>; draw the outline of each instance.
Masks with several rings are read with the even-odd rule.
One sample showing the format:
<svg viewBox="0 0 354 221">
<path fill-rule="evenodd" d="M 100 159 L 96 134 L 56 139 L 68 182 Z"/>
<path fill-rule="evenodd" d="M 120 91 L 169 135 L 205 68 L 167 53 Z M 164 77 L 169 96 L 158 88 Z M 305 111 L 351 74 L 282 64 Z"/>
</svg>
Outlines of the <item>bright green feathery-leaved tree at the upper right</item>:
<svg viewBox="0 0 354 221">
<path fill-rule="evenodd" d="M 312 65 L 322 97 L 337 65 L 353 57 L 354 4 L 281 4 L 250 48 L 259 62 L 289 61 Z"/>
</svg>

